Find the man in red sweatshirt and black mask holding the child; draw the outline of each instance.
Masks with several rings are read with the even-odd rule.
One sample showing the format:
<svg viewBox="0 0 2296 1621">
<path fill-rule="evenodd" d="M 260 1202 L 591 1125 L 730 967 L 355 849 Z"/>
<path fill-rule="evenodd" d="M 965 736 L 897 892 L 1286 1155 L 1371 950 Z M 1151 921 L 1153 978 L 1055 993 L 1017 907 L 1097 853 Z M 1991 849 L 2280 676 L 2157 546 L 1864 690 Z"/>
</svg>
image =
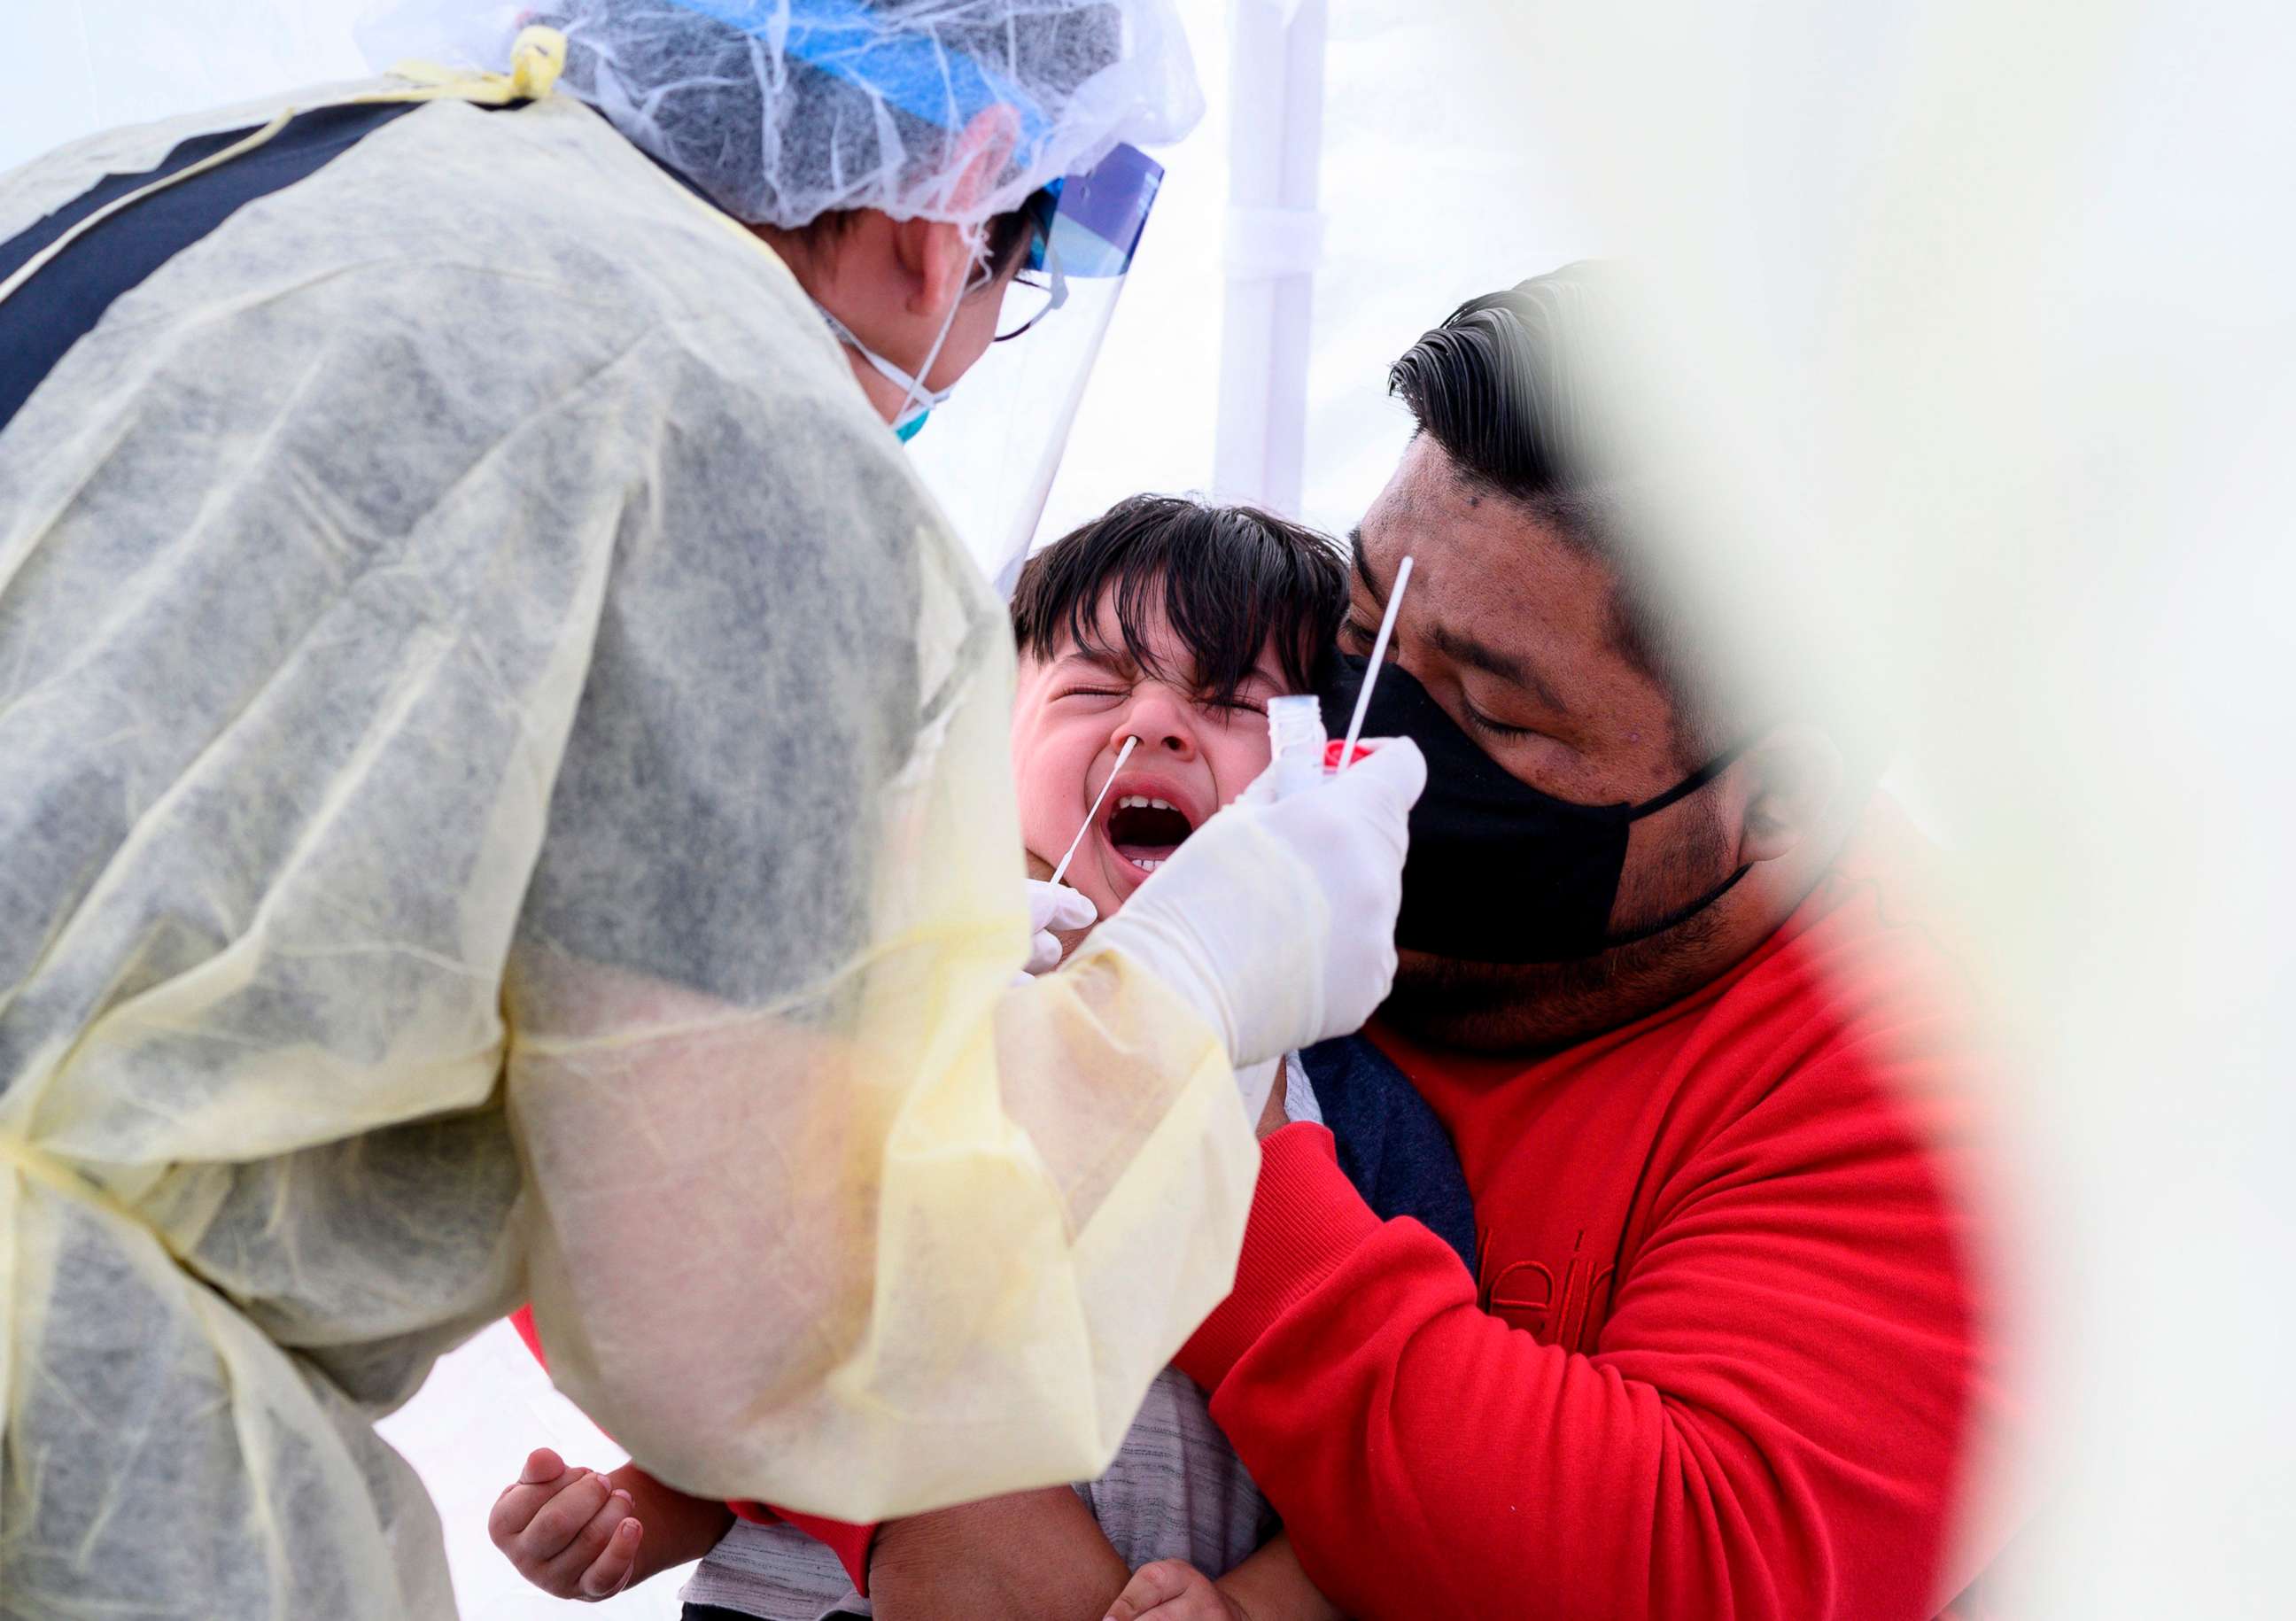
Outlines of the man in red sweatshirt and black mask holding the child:
<svg viewBox="0 0 2296 1621">
<path fill-rule="evenodd" d="M 1632 491 L 1573 441 L 1598 308 L 1570 266 L 1398 360 L 1419 434 L 1341 636 L 1417 558 L 1371 730 L 1430 788 L 1368 1047 L 1451 1132 L 1476 1265 L 1270 1120 L 1180 1366 L 1348 1614 L 1931 1616 L 1993 1552 L 1954 1536 L 2004 1405 L 1972 1010 L 1878 762 L 1733 714 L 1658 608 Z M 1573 912 L 1598 863 L 1607 905 L 1511 909 Z"/>
</svg>

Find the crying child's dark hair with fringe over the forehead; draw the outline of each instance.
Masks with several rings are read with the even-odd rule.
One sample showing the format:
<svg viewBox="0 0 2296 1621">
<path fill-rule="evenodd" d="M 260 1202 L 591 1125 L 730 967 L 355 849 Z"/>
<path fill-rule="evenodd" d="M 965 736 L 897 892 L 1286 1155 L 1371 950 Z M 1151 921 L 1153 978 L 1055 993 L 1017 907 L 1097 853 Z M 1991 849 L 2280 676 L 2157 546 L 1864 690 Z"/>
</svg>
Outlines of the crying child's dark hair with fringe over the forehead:
<svg viewBox="0 0 2296 1621">
<path fill-rule="evenodd" d="M 1120 650 L 1100 636 L 1109 590 Z M 1157 597 L 1208 703 L 1231 703 L 1270 643 L 1283 684 L 1313 691 L 1348 611 L 1348 565 L 1334 542 L 1256 507 L 1132 496 L 1029 558 L 1013 590 L 1013 636 L 1035 659 L 1075 641 L 1093 657 L 1123 652 L 1169 677 L 1139 634 Z"/>
</svg>

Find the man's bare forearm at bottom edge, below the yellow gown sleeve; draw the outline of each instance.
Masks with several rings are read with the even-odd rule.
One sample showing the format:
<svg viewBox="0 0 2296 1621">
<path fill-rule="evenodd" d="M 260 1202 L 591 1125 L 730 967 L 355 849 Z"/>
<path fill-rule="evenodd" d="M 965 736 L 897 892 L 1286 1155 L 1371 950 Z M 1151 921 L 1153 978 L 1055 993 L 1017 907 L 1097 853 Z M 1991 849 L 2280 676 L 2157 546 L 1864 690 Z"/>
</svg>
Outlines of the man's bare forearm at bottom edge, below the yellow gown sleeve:
<svg viewBox="0 0 2296 1621">
<path fill-rule="evenodd" d="M 1068 1486 L 893 1520 L 870 1550 L 882 1621 L 1100 1621 L 1132 1573 Z"/>
</svg>

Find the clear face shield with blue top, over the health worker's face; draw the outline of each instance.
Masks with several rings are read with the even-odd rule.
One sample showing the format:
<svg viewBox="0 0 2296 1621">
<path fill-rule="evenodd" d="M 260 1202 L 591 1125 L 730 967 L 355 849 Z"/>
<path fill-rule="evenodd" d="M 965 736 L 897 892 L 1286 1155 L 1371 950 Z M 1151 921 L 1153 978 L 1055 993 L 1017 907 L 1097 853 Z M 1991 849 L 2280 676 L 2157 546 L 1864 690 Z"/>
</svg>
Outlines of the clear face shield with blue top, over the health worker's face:
<svg viewBox="0 0 2296 1621">
<path fill-rule="evenodd" d="M 1006 595 L 1038 540 L 1068 429 L 1162 184 L 1162 163 L 1116 147 L 1091 172 L 1031 200 L 1029 262 L 1003 294 L 996 342 L 909 445 L 916 471 Z"/>
</svg>

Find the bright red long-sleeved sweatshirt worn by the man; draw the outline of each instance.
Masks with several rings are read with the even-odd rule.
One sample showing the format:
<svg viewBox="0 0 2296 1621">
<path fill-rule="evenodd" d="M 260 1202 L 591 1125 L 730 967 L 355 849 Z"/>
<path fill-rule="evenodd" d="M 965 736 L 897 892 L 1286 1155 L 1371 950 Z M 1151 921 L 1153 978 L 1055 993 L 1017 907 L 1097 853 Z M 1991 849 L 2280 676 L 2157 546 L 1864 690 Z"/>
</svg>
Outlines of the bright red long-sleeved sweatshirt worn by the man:
<svg viewBox="0 0 2296 1621">
<path fill-rule="evenodd" d="M 1180 1357 L 1357 1616 L 1929 1616 L 1993 1405 L 1963 1235 L 1970 1019 L 1894 813 L 1747 962 L 1561 1054 L 1373 1031 L 1451 1127 L 1481 1274 L 1265 1143 Z"/>
</svg>

